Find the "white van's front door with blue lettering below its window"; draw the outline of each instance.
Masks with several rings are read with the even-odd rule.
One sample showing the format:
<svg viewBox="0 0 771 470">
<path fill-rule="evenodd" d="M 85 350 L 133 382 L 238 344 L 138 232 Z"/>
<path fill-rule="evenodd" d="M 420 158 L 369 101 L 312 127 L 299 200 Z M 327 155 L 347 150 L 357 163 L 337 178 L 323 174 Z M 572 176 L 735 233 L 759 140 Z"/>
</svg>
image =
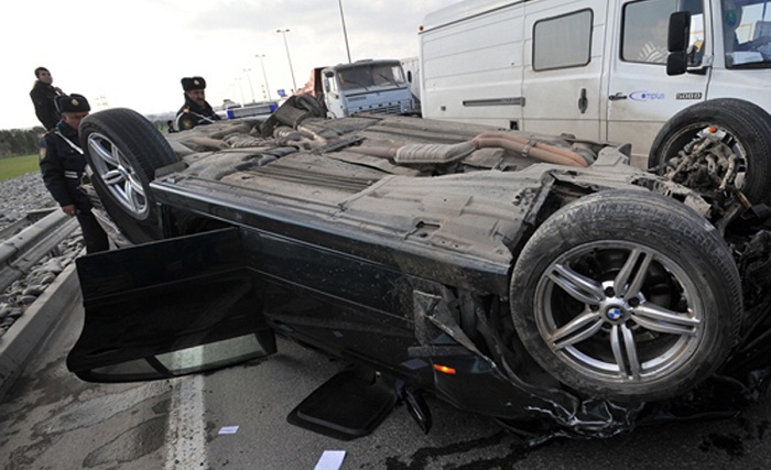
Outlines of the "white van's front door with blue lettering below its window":
<svg viewBox="0 0 771 470">
<path fill-rule="evenodd" d="M 621 1 L 612 12 L 607 139 L 630 142 L 634 166 L 647 166 L 651 143 L 666 120 L 706 96 L 710 68 L 666 75 L 669 18 L 678 10 L 691 11 L 689 62 L 698 65 L 713 50 L 703 0 Z"/>
</svg>

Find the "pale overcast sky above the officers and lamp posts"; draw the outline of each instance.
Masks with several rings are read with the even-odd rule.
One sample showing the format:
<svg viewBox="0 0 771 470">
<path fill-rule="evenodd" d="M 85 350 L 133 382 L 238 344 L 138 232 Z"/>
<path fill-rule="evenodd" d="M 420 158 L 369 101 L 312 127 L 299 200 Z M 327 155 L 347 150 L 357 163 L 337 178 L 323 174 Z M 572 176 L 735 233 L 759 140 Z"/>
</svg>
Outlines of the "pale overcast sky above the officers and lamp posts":
<svg viewBox="0 0 771 470">
<path fill-rule="evenodd" d="M 426 13 L 458 0 L 343 0 L 352 61 L 417 55 Z M 29 92 L 34 69 L 85 95 L 94 110 L 176 112 L 180 79 L 200 75 L 217 107 L 297 87 L 315 66 L 348 61 L 338 0 L 6 0 L 0 6 L 4 95 L 0 129 L 39 125 Z M 250 70 L 250 72 L 245 72 Z"/>
</svg>

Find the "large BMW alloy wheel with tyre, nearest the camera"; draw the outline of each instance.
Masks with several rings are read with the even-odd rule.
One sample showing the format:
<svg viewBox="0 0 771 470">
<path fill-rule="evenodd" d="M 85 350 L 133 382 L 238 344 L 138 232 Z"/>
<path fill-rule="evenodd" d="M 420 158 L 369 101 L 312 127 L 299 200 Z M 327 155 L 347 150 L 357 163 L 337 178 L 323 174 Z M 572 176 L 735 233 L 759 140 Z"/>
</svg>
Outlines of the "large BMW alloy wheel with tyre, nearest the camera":
<svg viewBox="0 0 771 470">
<path fill-rule="evenodd" d="M 738 341 L 738 270 L 685 205 L 606 190 L 537 228 L 510 285 L 517 334 L 564 385 L 617 402 L 678 395 Z"/>
</svg>

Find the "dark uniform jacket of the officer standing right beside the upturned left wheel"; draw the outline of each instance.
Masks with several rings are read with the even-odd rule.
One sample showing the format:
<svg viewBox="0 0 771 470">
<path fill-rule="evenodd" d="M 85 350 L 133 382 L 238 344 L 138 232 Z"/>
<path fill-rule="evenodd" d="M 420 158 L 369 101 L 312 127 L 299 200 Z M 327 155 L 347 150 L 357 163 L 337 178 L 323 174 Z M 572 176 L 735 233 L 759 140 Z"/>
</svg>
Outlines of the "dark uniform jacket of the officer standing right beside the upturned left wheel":
<svg viewBox="0 0 771 470">
<path fill-rule="evenodd" d="M 86 157 L 78 152 L 79 145 L 77 131 L 59 121 L 56 129 L 43 135 L 40 170 L 45 187 L 59 206 L 74 204 L 78 210 L 87 211 L 91 208 L 91 203 L 77 188 L 86 167 Z"/>
</svg>

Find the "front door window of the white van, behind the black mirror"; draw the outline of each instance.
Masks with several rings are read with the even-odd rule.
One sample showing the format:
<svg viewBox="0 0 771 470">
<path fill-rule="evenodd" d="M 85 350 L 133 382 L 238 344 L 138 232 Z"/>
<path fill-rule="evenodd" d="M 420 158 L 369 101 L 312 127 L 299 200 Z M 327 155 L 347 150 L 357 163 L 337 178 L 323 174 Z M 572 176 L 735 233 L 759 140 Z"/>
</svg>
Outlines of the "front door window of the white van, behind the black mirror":
<svg viewBox="0 0 771 470">
<path fill-rule="evenodd" d="M 691 11 L 689 65 L 698 65 L 704 54 L 702 0 L 641 0 L 627 3 L 623 7 L 621 59 L 665 65 L 670 15 L 678 10 Z"/>
</svg>

